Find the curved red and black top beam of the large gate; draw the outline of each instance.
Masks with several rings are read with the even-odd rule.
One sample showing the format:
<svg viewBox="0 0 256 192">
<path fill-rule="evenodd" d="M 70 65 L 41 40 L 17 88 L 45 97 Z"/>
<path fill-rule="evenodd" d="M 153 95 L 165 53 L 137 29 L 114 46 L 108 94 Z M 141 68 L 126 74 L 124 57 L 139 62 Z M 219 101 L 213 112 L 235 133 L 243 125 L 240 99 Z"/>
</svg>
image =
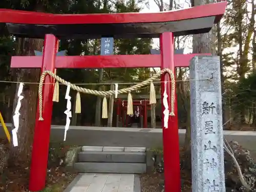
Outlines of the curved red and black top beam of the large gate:
<svg viewBox="0 0 256 192">
<path fill-rule="evenodd" d="M 225 12 L 227 2 L 158 13 L 51 14 L 0 9 L 0 23 L 6 23 L 18 37 L 58 38 L 159 37 L 209 32 Z"/>
</svg>

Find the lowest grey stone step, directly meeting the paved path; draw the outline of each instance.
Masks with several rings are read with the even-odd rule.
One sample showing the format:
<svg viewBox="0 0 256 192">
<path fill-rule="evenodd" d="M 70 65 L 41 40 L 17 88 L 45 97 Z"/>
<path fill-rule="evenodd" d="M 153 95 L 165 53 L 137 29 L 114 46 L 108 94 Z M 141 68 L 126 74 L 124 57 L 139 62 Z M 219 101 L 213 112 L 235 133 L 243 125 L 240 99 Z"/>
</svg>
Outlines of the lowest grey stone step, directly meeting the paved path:
<svg viewBox="0 0 256 192">
<path fill-rule="evenodd" d="M 78 162 L 74 168 L 79 173 L 144 174 L 145 163 Z"/>
</svg>

